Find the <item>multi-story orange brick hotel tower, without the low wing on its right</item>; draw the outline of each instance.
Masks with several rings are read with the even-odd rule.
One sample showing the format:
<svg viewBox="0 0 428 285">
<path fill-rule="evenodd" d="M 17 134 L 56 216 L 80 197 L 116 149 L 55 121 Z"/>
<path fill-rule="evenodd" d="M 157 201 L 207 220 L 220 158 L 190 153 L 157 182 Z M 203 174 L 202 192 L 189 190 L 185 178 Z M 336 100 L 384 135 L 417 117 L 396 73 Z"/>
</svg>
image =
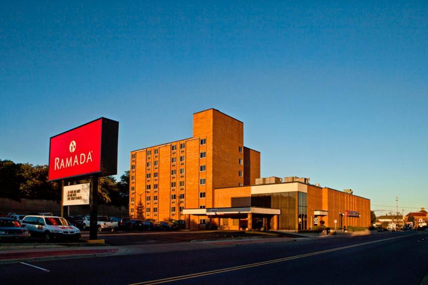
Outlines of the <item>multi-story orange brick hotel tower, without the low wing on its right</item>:
<svg viewBox="0 0 428 285">
<path fill-rule="evenodd" d="M 130 217 L 189 227 L 185 208 L 213 208 L 214 189 L 254 184 L 260 152 L 244 146 L 243 131 L 243 122 L 209 109 L 193 114 L 192 138 L 131 151 Z"/>
</svg>

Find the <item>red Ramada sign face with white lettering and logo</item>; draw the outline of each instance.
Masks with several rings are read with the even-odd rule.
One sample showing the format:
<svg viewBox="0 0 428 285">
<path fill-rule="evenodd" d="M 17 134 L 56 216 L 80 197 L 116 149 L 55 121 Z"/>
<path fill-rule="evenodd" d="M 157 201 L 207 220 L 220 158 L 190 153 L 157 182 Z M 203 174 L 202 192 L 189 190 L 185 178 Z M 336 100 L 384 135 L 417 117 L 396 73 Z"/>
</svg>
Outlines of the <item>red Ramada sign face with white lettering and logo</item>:
<svg viewBox="0 0 428 285">
<path fill-rule="evenodd" d="M 102 118 L 51 138 L 49 180 L 101 172 Z"/>
</svg>

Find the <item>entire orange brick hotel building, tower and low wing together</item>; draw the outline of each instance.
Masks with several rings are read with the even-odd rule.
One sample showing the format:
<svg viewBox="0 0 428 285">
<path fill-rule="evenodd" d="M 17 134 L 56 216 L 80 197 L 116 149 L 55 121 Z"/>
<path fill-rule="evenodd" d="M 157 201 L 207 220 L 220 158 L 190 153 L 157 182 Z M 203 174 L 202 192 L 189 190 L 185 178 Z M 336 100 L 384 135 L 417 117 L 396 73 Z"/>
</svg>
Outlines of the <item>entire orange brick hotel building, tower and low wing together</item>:
<svg viewBox="0 0 428 285">
<path fill-rule="evenodd" d="M 192 138 L 131 151 L 130 217 L 186 228 L 296 230 L 338 219 L 338 226 L 370 226 L 369 199 L 309 179 L 260 179 L 260 152 L 244 146 L 243 130 L 243 122 L 209 109 L 193 114 Z"/>
</svg>

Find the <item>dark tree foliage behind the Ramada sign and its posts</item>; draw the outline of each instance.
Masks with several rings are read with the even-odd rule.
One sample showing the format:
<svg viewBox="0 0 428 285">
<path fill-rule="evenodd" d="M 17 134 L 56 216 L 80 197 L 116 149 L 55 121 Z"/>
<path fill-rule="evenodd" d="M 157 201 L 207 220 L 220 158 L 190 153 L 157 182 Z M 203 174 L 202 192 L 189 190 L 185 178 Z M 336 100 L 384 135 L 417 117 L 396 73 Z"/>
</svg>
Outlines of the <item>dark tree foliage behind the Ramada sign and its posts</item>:
<svg viewBox="0 0 428 285">
<path fill-rule="evenodd" d="M 87 182 L 89 180 L 70 181 L 70 185 Z M 68 181 L 65 185 L 68 185 Z M 113 176 L 100 177 L 98 181 L 99 203 L 127 206 L 128 191 L 129 171 L 120 177 L 120 181 L 116 181 Z M 48 181 L 47 165 L 15 164 L 10 160 L 0 160 L 0 197 L 58 201 L 61 199 L 61 185 Z"/>
</svg>

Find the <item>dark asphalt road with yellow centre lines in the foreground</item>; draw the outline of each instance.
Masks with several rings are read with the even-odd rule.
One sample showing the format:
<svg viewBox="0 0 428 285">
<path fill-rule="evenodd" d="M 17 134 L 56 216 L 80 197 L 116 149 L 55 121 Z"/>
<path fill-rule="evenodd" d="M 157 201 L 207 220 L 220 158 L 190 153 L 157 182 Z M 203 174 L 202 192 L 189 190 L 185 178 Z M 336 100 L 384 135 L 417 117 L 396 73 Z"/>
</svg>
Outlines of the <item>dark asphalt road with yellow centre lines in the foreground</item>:
<svg viewBox="0 0 428 285">
<path fill-rule="evenodd" d="M 9 264 L 1 266 L 0 283 L 419 285 L 428 270 L 427 252 L 428 234 L 424 232 L 287 239 L 31 263 L 40 268 Z"/>
</svg>

